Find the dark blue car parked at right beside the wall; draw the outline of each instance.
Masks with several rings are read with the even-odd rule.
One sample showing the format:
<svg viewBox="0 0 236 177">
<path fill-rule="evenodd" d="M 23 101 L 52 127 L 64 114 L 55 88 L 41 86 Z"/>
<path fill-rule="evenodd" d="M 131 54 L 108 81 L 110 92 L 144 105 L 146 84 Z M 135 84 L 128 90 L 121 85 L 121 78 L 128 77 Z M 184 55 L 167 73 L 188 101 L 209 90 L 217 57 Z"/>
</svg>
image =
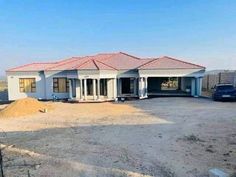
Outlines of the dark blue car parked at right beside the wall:
<svg viewBox="0 0 236 177">
<path fill-rule="evenodd" d="M 213 100 L 236 100 L 236 89 L 232 84 L 218 84 L 214 87 Z"/>
</svg>

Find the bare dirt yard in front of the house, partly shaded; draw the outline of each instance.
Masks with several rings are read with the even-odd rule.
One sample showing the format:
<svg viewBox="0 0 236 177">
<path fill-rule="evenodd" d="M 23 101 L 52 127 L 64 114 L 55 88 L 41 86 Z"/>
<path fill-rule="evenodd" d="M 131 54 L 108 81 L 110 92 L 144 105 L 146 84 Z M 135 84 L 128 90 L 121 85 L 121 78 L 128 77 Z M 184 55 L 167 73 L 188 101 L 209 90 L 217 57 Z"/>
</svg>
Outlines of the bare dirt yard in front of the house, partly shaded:
<svg viewBox="0 0 236 177">
<path fill-rule="evenodd" d="M 236 103 L 155 98 L 52 104 L 48 113 L 0 120 L 6 176 L 205 177 L 211 167 L 236 171 Z"/>
</svg>

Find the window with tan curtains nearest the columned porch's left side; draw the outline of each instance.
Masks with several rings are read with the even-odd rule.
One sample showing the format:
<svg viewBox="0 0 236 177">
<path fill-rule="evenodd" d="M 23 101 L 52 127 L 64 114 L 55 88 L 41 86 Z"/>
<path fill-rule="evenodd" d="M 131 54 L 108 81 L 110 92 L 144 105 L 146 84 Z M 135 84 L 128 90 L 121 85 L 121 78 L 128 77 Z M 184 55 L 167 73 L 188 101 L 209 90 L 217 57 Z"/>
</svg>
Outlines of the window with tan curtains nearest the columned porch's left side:
<svg viewBox="0 0 236 177">
<path fill-rule="evenodd" d="M 53 78 L 53 92 L 54 93 L 69 92 L 69 80 L 67 78 Z"/>
</svg>

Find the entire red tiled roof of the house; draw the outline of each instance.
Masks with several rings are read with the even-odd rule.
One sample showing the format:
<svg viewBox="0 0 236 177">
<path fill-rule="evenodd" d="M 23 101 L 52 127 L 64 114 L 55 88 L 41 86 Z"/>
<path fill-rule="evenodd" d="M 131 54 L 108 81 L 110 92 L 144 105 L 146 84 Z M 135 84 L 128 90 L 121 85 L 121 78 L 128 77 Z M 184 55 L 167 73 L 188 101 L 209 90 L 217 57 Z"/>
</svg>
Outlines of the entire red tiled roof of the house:
<svg viewBox="0 0 236 177">
<path fill-rule="evenodd" d="M 204 69 L 203 66 L 171 57 L 141 59 L 126 53 L 108 53 L 94 56 L 72 57 L 59 62 L 31 63 L 8 71 L 60 71 L 60 70 L 130 70 L 130 69 Z"/>
</svg>

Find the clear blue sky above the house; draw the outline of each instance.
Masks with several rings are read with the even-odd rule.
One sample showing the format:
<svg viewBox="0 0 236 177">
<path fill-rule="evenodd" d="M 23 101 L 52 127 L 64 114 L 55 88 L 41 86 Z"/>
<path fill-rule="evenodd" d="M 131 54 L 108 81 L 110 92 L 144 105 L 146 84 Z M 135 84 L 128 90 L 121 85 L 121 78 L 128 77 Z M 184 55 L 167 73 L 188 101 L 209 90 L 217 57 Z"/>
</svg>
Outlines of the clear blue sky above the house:
<svg viewBox="0 0 236 177">
<path fill-rule="evenodd" d="M 236 1 L 0 0 L 0 74 L 114 51 L 236 69 Z"/>
</svg>

